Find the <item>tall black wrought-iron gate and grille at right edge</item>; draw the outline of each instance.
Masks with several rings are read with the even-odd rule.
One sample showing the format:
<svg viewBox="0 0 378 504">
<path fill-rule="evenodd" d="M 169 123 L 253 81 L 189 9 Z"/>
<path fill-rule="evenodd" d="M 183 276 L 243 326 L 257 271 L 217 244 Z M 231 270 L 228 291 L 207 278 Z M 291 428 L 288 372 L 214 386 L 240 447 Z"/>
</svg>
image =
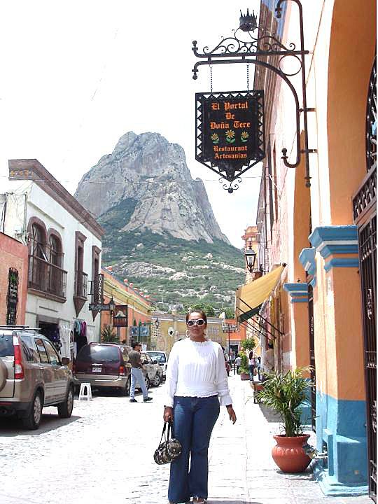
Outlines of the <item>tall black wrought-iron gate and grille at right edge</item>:
<svg viewBox="0 0 378 504">
<path fill-rule="evenodd" d="M 367 97 L 367 174 L 353 197 L 353 218 L 358 226 L 359 268 L 363 309 L 369 494 L 377 502 L 377 69 L 374 62 Z"/>
</svg>

